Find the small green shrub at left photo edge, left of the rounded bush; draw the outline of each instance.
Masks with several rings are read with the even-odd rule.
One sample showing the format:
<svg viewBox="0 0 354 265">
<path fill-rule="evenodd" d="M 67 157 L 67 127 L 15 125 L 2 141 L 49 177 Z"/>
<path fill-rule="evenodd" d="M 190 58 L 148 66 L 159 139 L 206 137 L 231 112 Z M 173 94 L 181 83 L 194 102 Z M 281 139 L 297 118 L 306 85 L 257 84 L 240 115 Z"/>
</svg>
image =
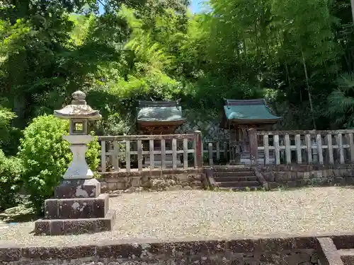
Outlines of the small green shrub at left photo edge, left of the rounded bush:
<svg viewBox="0 0 354 265">
<path fill-rule="evenodd" d="M 0 211 L 16 206 L 20 201 L 23 165 L 18 158 L 7 158 L 0 150 Z"/>
</svg>

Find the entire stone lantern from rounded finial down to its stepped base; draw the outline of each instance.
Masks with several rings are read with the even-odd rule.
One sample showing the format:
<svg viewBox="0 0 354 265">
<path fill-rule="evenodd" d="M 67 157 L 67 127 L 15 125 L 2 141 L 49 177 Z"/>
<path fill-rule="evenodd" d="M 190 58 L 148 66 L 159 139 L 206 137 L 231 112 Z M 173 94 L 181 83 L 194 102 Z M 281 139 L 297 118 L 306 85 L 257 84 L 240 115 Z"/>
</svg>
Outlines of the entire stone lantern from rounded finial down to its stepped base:
<svg viewBox="0 0 354 265">
<path fill-rule="evenodd" d="M 56 117 L 69 119 L 69 135 L 63 139 L 70 143 L 72 163 L 55 187 L 55 199 L 45 200 L 45 218 L 35 222 L 35 235 L 102 232 L 114 225 L 109 196 L 101 194 L 101 183 L 93 178 L 85 159 L 87 144 L 94 139 L 89 135 L 90 126 L 101 115 L 86 104 L 85 93 L 76 91 L 72 97 L 71 105 L 54 112 Z"/>
</svg>

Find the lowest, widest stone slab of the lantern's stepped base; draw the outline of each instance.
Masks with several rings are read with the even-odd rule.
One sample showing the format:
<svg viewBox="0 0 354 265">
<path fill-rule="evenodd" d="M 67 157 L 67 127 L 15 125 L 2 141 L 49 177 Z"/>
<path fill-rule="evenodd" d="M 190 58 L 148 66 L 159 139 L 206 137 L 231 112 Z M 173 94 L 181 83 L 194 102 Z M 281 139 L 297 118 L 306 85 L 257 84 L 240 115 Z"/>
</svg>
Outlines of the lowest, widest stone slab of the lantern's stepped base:
<svg viewBox="0 0 354 265">
<path fill-rule="evenodd" d="M 40 219 L 35 222 L 35 235 L 79 235 L 112 230 L 115 210 L 108 210 L 104 218 Z"/>
</svg>

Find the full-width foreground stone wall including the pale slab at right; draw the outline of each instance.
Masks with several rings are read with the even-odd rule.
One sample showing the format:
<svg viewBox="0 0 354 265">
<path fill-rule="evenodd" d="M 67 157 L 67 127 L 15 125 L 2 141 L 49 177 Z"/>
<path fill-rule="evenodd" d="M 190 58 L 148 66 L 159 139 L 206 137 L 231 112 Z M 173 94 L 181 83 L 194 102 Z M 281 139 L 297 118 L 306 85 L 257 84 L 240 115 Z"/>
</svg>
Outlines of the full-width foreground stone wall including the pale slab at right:
<svg viewBox="0 0 354 265">
<path fill-rule="evenodd" d="M 50 239 L 48 239 L 50 240 Z M 146 241 L 146 240 L 144 240 Z M 87 242 L 60 247 L 0 245 L 2 265 L 349 265 L 354 235 L 186 242 Z"/>
</svg>

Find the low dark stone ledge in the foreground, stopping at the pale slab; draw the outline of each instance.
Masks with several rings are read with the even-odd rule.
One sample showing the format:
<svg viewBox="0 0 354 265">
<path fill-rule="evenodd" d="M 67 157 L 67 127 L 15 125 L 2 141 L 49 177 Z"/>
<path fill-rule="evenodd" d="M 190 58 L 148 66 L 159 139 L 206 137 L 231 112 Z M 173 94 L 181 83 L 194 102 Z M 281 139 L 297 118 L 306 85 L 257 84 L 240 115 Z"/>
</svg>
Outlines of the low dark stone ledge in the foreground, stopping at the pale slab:
<svg viewBox="0 0 354 265">
<path fill-rule="evenodd" d="M 50 240 L 50 239 L 48 239 Z M 208 257 L 215 254 L 228 256 L 228 253 L 280 252 L 294 249 L 316 249 L 316 237 L 265 238 L 245 240 L 205 240 L 185 242 L 107 242 L 106 244 L 88 242 L 88 245 L 68 247 L 1 247 L 0 261 L 29 261 L 52 259 L 130 259 L 152 260 L 178 257 Z"/>
</svg>

